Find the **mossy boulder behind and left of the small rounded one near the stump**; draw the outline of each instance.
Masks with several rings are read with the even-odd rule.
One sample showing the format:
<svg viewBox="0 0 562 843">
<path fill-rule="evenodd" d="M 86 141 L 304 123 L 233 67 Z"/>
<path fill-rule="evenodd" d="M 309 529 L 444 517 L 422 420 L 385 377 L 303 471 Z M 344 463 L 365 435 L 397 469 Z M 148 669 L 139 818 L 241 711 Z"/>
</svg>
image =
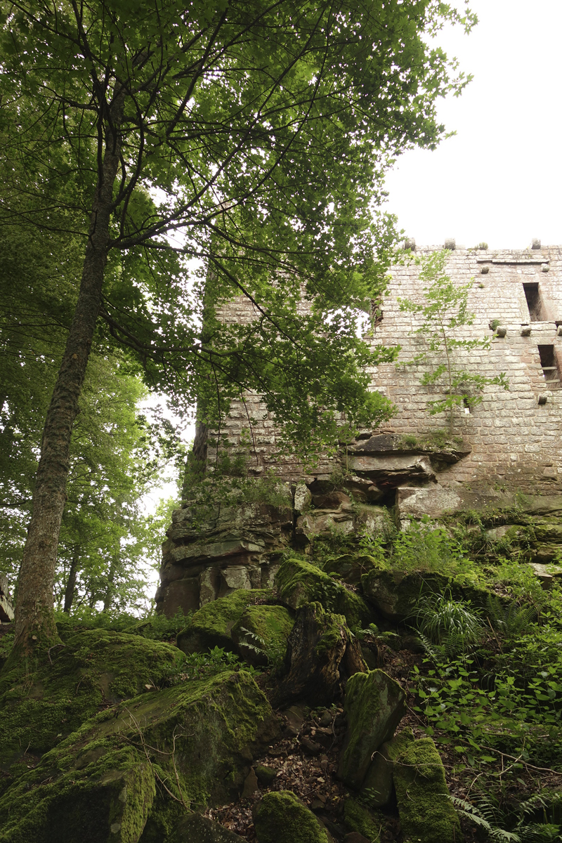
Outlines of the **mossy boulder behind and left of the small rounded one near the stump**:
<svg viewBox="0 0 562 843">
<path fill-rule="evenodd" d="M 190 623 L 178 636 L 178 647 L 184 652 L 207 652 L 213 647 L 223 647 L 228 652 L 238 652 L 232 631 L 249 606 L 272 599 L 269 588 L 240 589 L 211 600 L 192 615 Z"/>
</svg>

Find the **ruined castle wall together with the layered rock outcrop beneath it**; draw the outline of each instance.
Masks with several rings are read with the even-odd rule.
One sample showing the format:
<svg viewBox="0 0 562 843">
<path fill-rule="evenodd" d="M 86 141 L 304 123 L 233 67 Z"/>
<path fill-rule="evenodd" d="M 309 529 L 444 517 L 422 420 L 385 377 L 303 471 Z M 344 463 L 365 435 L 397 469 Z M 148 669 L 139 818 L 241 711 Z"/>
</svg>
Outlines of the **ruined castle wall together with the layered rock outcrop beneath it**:
<svg viewBox="0 0 562 843">
<path fill-rule="evenodd" d="M 393 267 L 387 293 L 376 303 L 371 336 L 366 338 L 373 346 L 401 346 L 399 361 L 426 349 L 423 336 L 413 333 L 422 319 L 401 311 L 399 298 L 421 302 L 415 259 L 429 252 L 413 251 Z M 442 396 L 444 387 L 420 384 L 427 366 L 441 362 L 437 360 L 426 368 L 394 363 L 373 368 L 372 389 L 393 401 L 397 415 L 381 430 L 361 431 L 335 458 L 321 458 L 313 474 L 294 458 L 278 453 L 275 421 L 268 418 L 259 395 L 233 401 L 222 429 L 208 432 L 209 481 L 216 443 L 226 437 L 231 456 L 247 456 L 249 475 L 273 472 L 286 497 L 280 508 L 267 500 L 247 505 L 241 499 L 238 505 L 228 505 L 219 495 L 203 512 L 194 491 L 193 499 L 174 513 L 163 545 L 158 610 L 173 615 L 178 608 L 197 609 L 238 588 L 269 586 L 284 550 L 290 546 L 306 550 L 318 535 L 376 533 L 387 518 L 400 524 L 466 507 L 505 506 L 517 491 L 547 496 L 541 500 L 559 507 L 562 498 L 555 496 L 562 491 L 561 253 L 559 247 L 451 252 L 447 272 L 452 279 L 464 284 L 474 278 L 468 297 L 474 324 L 463 327 L 458 336 L 490 339 L 489 348 L 456 352 L 457 362 L 487 377 L 505 372 L 509 379 L 508 391 L 487 386 L 480 404 L 458 408 L 452 438 L 443 433 L 447 418 L 428 411 L 429 402 Z M 256 316 L 252 305 L 240 298 L 222 308 L 227 321 Z M 501 330 L 490 329 L 494 322 Z M 335 469 L 340 470 L 337 489 Z M 353 494 L 353 501 L 345 492 Z M 536 550 L 535 561 L 558 552 L 542 549 L 541 556 Z"/>
</svg>

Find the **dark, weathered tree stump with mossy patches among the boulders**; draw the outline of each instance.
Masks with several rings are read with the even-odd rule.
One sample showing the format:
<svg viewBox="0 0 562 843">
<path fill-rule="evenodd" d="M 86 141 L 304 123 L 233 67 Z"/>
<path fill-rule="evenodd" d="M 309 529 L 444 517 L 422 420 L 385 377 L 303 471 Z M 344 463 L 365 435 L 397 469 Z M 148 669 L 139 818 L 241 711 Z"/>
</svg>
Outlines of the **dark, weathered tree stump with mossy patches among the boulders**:
<svg viewBox="0 0 562 843">
<path fill-rule="evenodd" d="M 327 704 L 343 679 L 365 670 L 361 648 L 342 615 L 325 612 L 319 603 L 297 610 L 287 642 L 285 675 L 273 691 L 274 705 L 303 700 L 311 706 Z"/>
</svg>

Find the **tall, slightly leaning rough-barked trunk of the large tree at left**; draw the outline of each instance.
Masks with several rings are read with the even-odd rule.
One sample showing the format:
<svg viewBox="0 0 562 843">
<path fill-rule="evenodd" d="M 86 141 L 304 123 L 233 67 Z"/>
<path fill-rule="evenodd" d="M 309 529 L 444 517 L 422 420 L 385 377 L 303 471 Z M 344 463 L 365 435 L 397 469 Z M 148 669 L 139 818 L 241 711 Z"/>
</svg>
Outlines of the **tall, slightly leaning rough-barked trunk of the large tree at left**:
<svg viewBox="0 0 562 843">
<path fill-rule="evenodd" d="M 78 415 L 78 398 L 94 338 L 110 247 L 110 212 L 120 160 L 119 126 L 124 100 L 125 93 L 118 92 L 110 107 L 111 128 L 106 130 L 104 138 L 78 301 L 43 430 L 15 611 L 14 646 L 25 651 L 45 637 L 56 638 L 53 615 L 56 549 L 67 499 L 72 425 Z M 99 119 L 102 120 L 102 115 Z"/>
</svg>

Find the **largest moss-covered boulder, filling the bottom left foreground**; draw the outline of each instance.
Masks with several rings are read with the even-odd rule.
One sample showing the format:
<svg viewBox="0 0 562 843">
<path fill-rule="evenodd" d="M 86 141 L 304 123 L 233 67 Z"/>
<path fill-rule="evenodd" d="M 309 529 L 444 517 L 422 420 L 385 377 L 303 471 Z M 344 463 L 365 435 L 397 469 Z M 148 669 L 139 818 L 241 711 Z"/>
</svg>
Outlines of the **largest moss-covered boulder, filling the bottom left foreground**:
<svg viewBox="0 0 562 843">
<path fill-rule="evenodd" d="M 185 808 L 225 803 L 278 734 L 244 671 L 137 696 L 84 723 L 8 787 L 0 843 L 136 843 L 155 782 Z"/>
</svg>

